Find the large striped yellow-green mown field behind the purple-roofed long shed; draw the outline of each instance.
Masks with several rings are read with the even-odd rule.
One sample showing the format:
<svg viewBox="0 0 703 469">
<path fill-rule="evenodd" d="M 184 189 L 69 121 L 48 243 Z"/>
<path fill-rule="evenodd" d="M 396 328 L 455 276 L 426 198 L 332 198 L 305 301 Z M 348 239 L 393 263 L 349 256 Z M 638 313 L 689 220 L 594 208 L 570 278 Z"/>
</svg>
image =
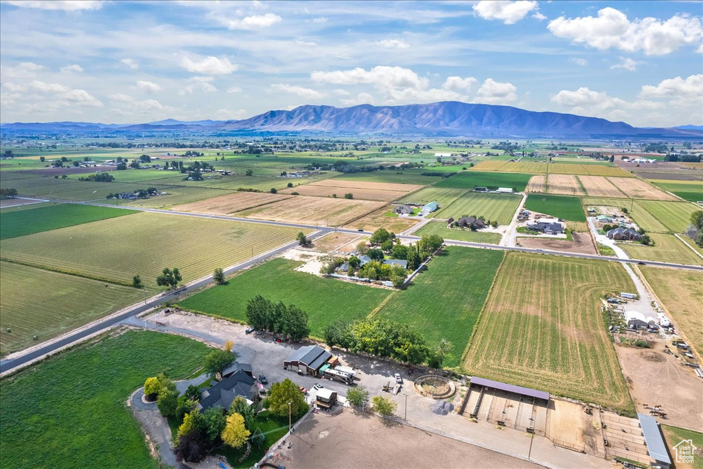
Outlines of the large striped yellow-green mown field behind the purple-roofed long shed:
<svg viewBox="0 0 703 469">
<path fill-rule="evenodd" d="M 633 288 L 614 262 L 508 252 L 463 366 L 472 375 L 632 412 L 600 298 Z"/>
</svg>

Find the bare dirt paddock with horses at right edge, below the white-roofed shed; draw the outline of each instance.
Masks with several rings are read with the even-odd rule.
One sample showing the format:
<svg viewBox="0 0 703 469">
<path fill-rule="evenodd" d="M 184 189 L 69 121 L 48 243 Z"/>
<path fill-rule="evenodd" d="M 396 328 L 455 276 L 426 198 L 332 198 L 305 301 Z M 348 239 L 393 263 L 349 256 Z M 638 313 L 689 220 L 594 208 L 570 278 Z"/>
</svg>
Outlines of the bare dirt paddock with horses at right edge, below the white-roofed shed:
<svg viewBox="0 0 703 469">
<path fill-rule="evenodd" d="M 652 342 L 652 349 L 616 345 L 615 350 L 638 412 L 647 413 L 643 404 L 662 405 L 668 418 L 657 418 L 660 422 L 703 428 L 703 380 L 679 359 L 665 354 L 664 342 Z"/>
</svg>

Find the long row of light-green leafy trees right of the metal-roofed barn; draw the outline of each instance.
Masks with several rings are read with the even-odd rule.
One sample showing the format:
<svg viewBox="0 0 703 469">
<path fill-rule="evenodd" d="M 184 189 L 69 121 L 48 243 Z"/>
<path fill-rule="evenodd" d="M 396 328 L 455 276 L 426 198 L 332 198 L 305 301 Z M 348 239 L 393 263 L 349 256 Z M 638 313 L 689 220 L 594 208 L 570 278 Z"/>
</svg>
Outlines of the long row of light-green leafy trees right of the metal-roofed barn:
<svg viewBox="0 0 703 469">
<path fill-rule="evenodd" d="M 451 343 L 440 340 L 431 347 L 417 330 L 388 319 L 337 319 L 324 332 L 330 347 L 342 347 L 352 353 L 363 352 L 409 364 L 427 363 L 441 368 Z"/>
</svg>

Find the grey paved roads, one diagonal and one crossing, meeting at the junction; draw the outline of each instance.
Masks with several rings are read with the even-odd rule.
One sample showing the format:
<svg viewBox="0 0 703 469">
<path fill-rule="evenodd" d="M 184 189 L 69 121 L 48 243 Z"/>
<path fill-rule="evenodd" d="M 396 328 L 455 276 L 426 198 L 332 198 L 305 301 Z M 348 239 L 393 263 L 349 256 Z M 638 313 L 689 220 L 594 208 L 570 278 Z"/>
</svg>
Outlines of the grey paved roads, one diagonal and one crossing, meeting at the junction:
<svg viewBox="0 0 703 469">
<path fill-rule="evenodd" d="M 129 207 L 126 205 L 110 205 L 110 204 L 95 203 L 95 202 L 86 203 L 86 202 L 76 202 L 75 200 L 51 199 L 51 201 L 52 202 L 61 202 L 61 203 L 78 203 L 78 204 L 86 204 L 86 205 L 96 205 L 98 207 L 122 208 L 125 210 L 127 210 L 127 209 L 141 210 L 142 212 L 181 215 L 181 216 L 186 216 L 186 217 L 200 217 L 200 218 L 210 218 L 210 219 L 234 220 L 234 221 L 243 221 L 245 223 L 269 224 L 269 225 L 276 225 L 276 226 L 290 226 L 290 227 L 295 227 L 295 228 L 316 230 L 316 233 L 313 233 L 311 236 L 309 236 L 309 238 L 311 238 L 311 239 L 318 238 L 319 236 L 323 236 L 323 235 L 330 233 L 330 232 L 354 233 L 354 234 L 366 234 L 366 235 L 372 234 L 370 231 L 359 231 L 359 230 L 334 228 L 334 227 L 295 224 L 295 223 L 288 223 L 288 222 L 283 222 L 283 221 L 266 221 L 266 220 L 254 220 L 254 219 L 238 218 L 238 217 L 226 217 L 223 215 L 196 214 L 196 213 L 191 213 L 191 212 L 178 212 L 176 210 L 161 210 L 161 209 L 152 209 L 152 208 L 144 208 L 144 207 Z M 399 236 L 399 238 L 406 239 L 406 240 L 419 240 L 420 239 L 420 237 L 418 237 L 418 236 Z M 652 265 L 652 266 L 674 267 L 677 269 L 703 271 L 703 266 L 693 266 L 693 265 L 687 265 L 687 264 L 673 264 L 671 262 L 641 261 L 640 259 L 618 259 L 617 257 L 602 257 L 599 255 L 578 254 L 575 252 L 561 252 L 561 251 L 541 250 L 541 249 L 533 249 L 533 248 L 517 248 L 517 247 L 512 247 L 512 246 L 499 246 L 499 245 L 494 245 L 494 244 L 472 243 L 469 241 L 458 241 L 458 240 L 445 240 L 445 242 L 447 245 L 465 246 L 467 248 L 484 248 L 484 249 L 495 249 L 495 250 L 504 250 L 504 251 L 531 252 L 533 254 L 548 254 L 548 255 L 559 255 L 559 256 L 566 256 L 566 257 L 579 257 L 581 259 L 598 259 L 598 260 L 605 260 L 605 261 L 610 261 L 610 262 L 621 262 L 623 264 L 625 264 L 625 263 L 638 263 L 638 264 L 647 264 L 647 265 Z M 225 274 L 229 275 L 229 274 L 233 274 L 236 271 L 240 271 L 241 269 L 246 269 L 247 267 L 252 266 L 254 264 L 257 264 L 258 262 L 262 262 L 263 260 L 268 259 L 269 257 L 273 257 L 275 255 L 278 255 L 281 252 L 284 252 L 285 250 L 288 250 L 288 249 L 294 247 L 295 245 L 297 245 L 297 241 L 293 241 L 293 242 L 288 243 L 286 245 L 280 246 L 280 248 L 277 248 L 273 251 L 266 252 L 262 255 L 254 257 L 246 262 L 243 262 L 243 263 L 238 264 L 236 266 L 232 266 L 229 269 L 226 269 Z M 101 330 L 105 330 L 106 328 L 114 326 L 115 324 L 119 323 L 120 321 L 123 321 L 124 319 L 128 319 L 131 316 L 136 316 L 137 314 L 140 314 L 141 312 L 146 311 L 147 309 L 157 307 L 160 304 L 167 302 L 167 301 L 176 300 L 180 295 L 190 293 L 193 290 L 197 290 L 198 288 L 201 288 L 202 286 L 207 285 L 211 281 L 212 281 L 212 276 L 202 278 L 202 279 L 200 279 L 200 281 L 192 283 L 191 285 L 188 285 L 186 288 L 181 288 L 180 290 L 173 292 L 173 293 L 167 293 L 165 295 L 162 295 L 161 297 L 158 297 L 156 300 L 151 300 L 149 302 L 146 302 L 146 304 L 135 304 L 133 308 L 129 309 L 124 314 L 120 314 L 118 316 L 111 316 L 110 318 L 106 318 L 104 321 L 100 321 L 89 328 L 86 328 L 84 330 L 79 330 L 76 333 L 71 334 L 71 335 L 67 335 L 65 338 L 62 338 L 61 340 L 58 340 L 58 341 L 53 342 L 49 345 L 41 347 L 37 350 L 29 352 L 29 353 L 22 355 L 16 359 L 0 361 L 0 373 L 5 373 L 6 371 L 10 371 L 13 368 L 16 368 L 22 364 L 27 363 L 28 361 L 32 361 L 33 359 L 37 359 L 40 356 L 43 356 L 44 354 L 50 354 L 51 352 L 54 352 L 57 349 L 60 349 L 61 347 L 65 347 L 66 345 L 70 345 L 73 342 L 77 342 L 79 340 L 82 340 L 83 338 L 86 338 L 86 336 L 91 335 L 93 333 L 98 333 Z"/>
</svg>

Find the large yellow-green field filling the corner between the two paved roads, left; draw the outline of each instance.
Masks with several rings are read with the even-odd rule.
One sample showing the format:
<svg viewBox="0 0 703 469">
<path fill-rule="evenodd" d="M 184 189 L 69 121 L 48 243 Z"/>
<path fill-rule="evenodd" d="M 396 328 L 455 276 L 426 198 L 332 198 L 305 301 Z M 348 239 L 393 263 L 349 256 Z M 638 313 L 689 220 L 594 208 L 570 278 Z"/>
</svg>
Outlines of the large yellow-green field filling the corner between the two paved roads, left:
<svg viewBox="0 0 703 469">
<path fill-rule="evenodd" d="M 178 267 L 185 283 L 295 240 L 299 231 L 142 212 L 127 225 L 121 218 L 93 221 L 2 240 L 0 249 L 6 259 L 105 281 L 131 283 L 139 275 L 155 288 L 164 267 Z"/>
</svg>

